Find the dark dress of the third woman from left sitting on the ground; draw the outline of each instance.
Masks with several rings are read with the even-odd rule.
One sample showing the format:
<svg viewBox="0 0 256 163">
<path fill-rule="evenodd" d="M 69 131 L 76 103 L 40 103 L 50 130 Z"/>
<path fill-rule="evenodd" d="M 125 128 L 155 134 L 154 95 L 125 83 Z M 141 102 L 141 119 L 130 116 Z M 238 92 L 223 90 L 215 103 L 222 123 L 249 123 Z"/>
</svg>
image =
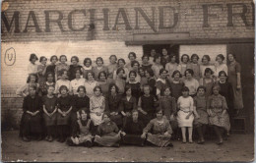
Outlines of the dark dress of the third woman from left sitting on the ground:
<svg viewBox="0 0 256 163">
<path fill-rule="evenodd" d="M 134 144 L 134 145 L 142 145 L 144 140 L 141 138 L 143 133 L 143 122 L 133 122 L 132 119 L 128 121 L 128 123 L 124 126 L 125 136 L 123 136 L 123 143 L 125 144 Z"/>
</svg>

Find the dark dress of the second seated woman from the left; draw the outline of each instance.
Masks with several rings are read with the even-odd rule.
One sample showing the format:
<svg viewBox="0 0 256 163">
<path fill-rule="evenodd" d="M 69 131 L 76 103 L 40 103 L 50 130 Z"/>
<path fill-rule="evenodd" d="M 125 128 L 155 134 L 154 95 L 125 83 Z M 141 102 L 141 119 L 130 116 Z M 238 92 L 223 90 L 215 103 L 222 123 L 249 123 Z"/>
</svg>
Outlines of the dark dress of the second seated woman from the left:
<svg viewBox="0 0 256 163">
<path fill-rule="evenodd" d="M 52 113 L 57 106 L 57 97 L 53 96 L 49 98 L 47 95 L 42 97 L 42 104 L 45 106 L 45 109 L 48 113 Z M 54 113 L 51 117 L 43 113 L 43 120 L 46 127 L 56 125 L 57 113 Z"/>
</svg>

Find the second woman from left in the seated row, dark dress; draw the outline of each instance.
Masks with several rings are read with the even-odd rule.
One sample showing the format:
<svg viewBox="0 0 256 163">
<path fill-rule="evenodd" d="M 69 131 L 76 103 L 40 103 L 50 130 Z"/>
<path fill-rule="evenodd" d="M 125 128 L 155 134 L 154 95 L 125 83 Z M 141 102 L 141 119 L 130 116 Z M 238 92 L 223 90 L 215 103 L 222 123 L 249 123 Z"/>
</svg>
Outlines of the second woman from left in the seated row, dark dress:
<svg viewBox="0 0 256 163">
<path fill-rule="evenodd" d="M 43 120 L 47 131 L 45 139 L 48 141 L 52 141 L 57 119 L 57 97 L 53 95 L 53 86 L 48 86 L 47 92 L 47 95 L 42 97 Z"/>
</svg>

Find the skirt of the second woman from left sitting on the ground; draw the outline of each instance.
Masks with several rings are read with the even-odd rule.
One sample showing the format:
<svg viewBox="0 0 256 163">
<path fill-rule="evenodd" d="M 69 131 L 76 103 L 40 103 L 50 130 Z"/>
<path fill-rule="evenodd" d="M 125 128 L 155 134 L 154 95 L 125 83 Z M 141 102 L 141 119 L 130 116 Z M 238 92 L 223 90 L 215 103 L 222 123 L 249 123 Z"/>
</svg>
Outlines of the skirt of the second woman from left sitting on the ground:
<svg viewBox="0 0 256 163">
<path fill-rule="evenodd" d="M 111 133 L 105 136 L 96 136 L 95 142 L 103 146 L 113 146 L 121 137 L 116 133 Z"/>
</svg>

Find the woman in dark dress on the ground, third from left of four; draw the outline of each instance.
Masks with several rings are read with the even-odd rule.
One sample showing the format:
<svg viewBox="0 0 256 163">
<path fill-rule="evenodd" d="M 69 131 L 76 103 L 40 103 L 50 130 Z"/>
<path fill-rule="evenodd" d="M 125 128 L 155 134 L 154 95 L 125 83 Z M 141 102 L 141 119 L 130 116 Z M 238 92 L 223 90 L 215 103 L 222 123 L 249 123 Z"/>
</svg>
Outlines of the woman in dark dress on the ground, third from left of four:
<svg viewBox="0 0 256 163">
<path fill-rule="evenodd" d="M 132 111 L 132 120 L 129 119 L 125 124 L 123 132 L 123 143 L 125 144 L 134 144 L 134 145 L 144 145 L 145 138 L 142 138 L 143 133 L 143 123 L 138 119 L 139 112 L 138 110 Z"/>
</svg>

